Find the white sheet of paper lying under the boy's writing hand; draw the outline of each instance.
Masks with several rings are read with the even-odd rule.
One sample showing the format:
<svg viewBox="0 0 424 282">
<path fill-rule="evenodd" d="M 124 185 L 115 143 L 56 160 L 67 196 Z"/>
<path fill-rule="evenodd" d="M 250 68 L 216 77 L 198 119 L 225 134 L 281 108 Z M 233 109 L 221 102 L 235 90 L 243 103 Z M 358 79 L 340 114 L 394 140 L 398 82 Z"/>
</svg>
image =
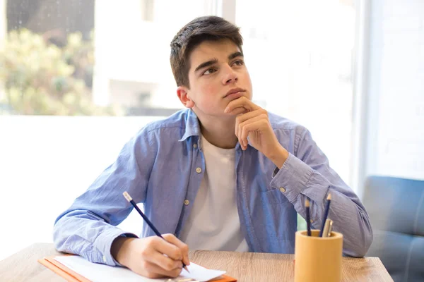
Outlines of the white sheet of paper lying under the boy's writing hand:
<svg viewBox="0 0 424 282">
<path fill-rule="evenodd" d="M 54 257 L 54 259 L 93 282 L 158 282 L 167 281 L 169 279 L 146 278 L 140 276 L 139 274 L 135 274 L 133 271 L 124 267 L 94 264 L 93 262 L 88 262 L 88 260 L 80 256 L 58 256 Z M 209 281 L 213 278 L 217 278 L 225 274 L 225 271 L 206 269 L 199 264 L 194 264 L 193 262 L 191 262 L 187 268 L 189 269 L 190 273 L 183 269 L 179 275 L 179 278 L 193 278 L 198 281 Z M 178 278 L 176 278 L 176 280 L 177 279 Z"/>
</svg>

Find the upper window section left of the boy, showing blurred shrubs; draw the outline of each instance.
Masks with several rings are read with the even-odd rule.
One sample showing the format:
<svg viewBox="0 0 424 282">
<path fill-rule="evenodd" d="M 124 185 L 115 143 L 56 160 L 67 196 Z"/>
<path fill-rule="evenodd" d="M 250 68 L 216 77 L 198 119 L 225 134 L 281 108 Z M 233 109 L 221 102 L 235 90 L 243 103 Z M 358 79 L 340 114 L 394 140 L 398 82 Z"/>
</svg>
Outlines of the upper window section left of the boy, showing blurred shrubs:
<svg viewBox="0 0 424 282">
<path fill-rule="evenodd" d="M 213 2 L 6 1 L 1 113 L 172 114 L 182 105 L 170 42 L 189 20 L 211 14 Z"/>
</svg>

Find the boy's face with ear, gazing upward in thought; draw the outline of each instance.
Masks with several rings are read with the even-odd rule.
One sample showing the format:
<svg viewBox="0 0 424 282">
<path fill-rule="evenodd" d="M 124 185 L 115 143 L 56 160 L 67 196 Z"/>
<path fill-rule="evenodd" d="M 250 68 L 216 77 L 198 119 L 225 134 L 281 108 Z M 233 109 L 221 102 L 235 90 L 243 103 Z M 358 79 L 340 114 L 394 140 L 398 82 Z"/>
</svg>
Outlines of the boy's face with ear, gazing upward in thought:
<svg viewBox="0 0 424 282">
<path fill-rule="evenodd" d="M 190 88 L 177 94 L 199 116 L 230 116 L 224 110 L 242 96 L 252 99 L 252 82 L 240 49 L 229 39 L 204 41 L 190 54 Z"/>
</svg>

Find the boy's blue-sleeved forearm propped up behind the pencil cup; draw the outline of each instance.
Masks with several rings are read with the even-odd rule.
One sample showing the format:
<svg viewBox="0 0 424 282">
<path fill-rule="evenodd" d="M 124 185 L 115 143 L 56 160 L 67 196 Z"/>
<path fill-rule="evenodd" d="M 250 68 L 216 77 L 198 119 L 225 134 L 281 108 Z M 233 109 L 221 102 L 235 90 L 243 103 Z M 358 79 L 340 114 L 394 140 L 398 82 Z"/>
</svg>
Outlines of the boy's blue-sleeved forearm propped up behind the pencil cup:
<svg viewBox="0 0 424 282">
<path fill-rule="evenodd" d="M 271 181 L 275 188 L 283 187 L 283 194 L 296 211 L 305 218 L 305 197 L 311 202 L 312 226 L 321 228 L 324 203 L 331 192 L 329 218 L 334 221 L 333 230 L 343 233 L 343 249 L 346 255 L 362 257 L 372 242 L 370 220 L 358 196 L 331 173 L 319 173 L 293 155 Z"/>
</svg>

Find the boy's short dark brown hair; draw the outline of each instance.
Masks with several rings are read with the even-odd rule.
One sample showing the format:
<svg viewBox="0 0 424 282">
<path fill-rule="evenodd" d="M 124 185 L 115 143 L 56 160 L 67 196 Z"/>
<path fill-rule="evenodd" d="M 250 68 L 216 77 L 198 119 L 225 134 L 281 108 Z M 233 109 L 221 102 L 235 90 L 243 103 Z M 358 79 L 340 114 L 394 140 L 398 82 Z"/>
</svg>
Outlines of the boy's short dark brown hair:
<svg viewBox="0 0 424 282">
<path fill-rule="evenodd" d="M 217 16 L 195 18 L 175 35 L 171 42 L 171 68 L 177 86 L 189 87 L 189 56 L 194 47 L 206 40 L 230 39 L 242 51 L 240 27 Z"/>
</svg>

